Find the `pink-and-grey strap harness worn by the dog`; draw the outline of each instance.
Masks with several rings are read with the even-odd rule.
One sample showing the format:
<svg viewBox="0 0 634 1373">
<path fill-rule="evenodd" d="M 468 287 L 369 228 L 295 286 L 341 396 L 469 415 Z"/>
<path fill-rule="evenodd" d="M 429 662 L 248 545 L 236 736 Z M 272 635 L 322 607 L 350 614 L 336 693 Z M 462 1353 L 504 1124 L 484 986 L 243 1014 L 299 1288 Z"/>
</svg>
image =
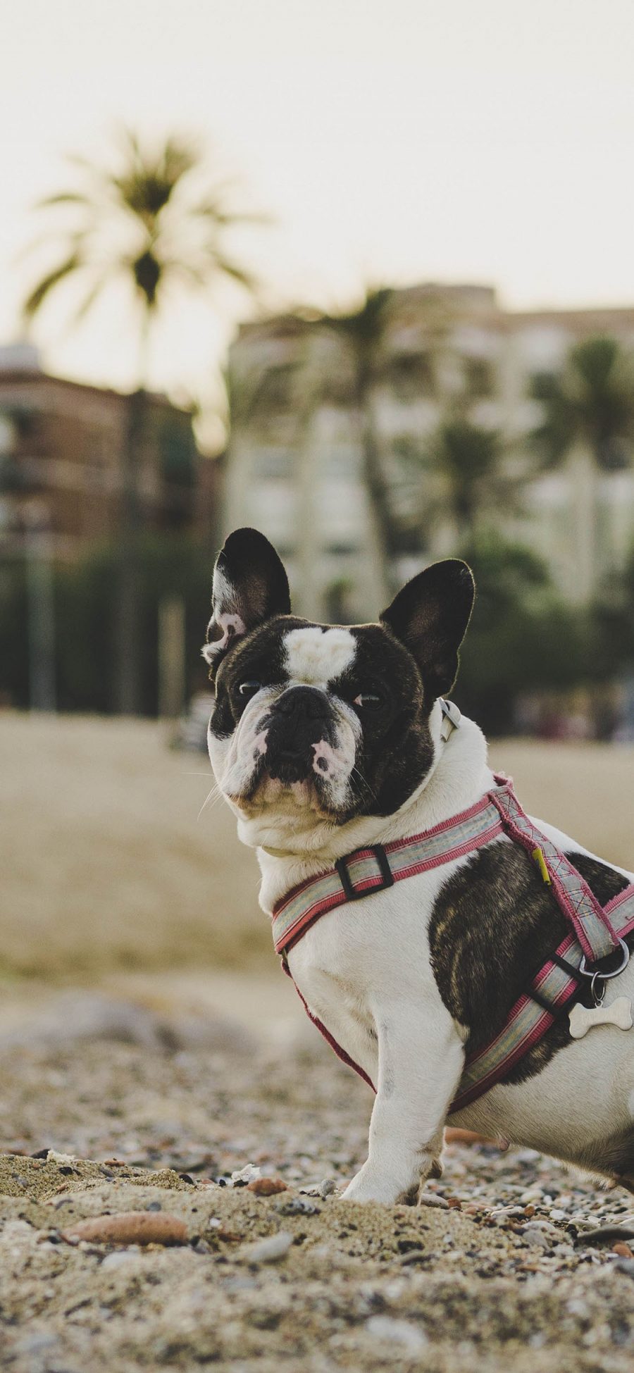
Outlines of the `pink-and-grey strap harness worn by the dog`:
<svg viewBox="0 0 634 1373">
<path fill-rule="evenodd" d="M 272 917 L 276 953 L 281 954 L 284 972 L 292 978 L 287 961 L 290 950 L 328 912 L 376 891 L 386 891 L 397 881 L 439 868 L 454 858 L 476 853 L 504 835 L 526 849 L 535 861 L 542 880 L 552 888 L 568 921 L 570 932 L 510 1008 L 500 1032 L 483 1049 L 467 1053 L 458 1092 L 449 1108 L 450 1115 L 504 1081 L 528 1049 L 543 1038 L 587 980 L 596 1006 L 601 1005 L 605 982 L 618 976 L 630 957 L 626 938 L 634 931 L 634 883 L 601 906 L 565 854 L 528 818 L 515 795 L 512 781 L 495 776 L 495 787 L 475 806 L 420 835 L 387 844 L 369 844 L 339 858 L 328 872 L 294 887 L 277 902 Z M 620 954 L 619 965 L 602 971 L 601 962 L 615 953 Z M 299 987 L 296 990 L 307 1015 L 335 1053 L 376 1090 L 368 1074 L 312 1013 Z"/>
</svg>

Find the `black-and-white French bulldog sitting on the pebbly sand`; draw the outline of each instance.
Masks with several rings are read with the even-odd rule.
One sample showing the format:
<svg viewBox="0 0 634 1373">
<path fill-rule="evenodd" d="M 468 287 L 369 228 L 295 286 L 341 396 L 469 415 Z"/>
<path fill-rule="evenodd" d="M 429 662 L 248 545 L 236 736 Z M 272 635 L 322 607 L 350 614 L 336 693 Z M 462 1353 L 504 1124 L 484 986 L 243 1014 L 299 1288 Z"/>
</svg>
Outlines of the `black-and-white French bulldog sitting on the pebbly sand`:
<svg viewBox="0 0 634 1373">
<path fill-rule="evenodd" d="M 346 855 L 442 832 L 500 784 L 479 726 L 462 717 L 446 728 L 473 597 L 469 567 L 449 559 L 408 582 L 376 623 L 317 625 L 291 615 L 283 563 L 262 534 L 226 540 L 203 648 L 215 688 L 209 754 L 240 839 L 257 849 L 269 914 Z M 601 906 L 634 881 L 534 824 Z M 504 1026 L 565 934 L 548 880 L 501 833 L 354 892 L 288 950 L 309 1015 L 376 1090 L 368 1159 L 344 1197 L 412 1199 L 441 1168 L 447 1120 L 633 1189 L 634 1031 L 601 1024 L 574 1039 L 567 1016 L 554 1019 L 504 1081 L 450 1112 L 468 1052 Z M 608 1008 L 616 993 L 634 998 L 634 962 L 605 990 Z"/>
</svg>

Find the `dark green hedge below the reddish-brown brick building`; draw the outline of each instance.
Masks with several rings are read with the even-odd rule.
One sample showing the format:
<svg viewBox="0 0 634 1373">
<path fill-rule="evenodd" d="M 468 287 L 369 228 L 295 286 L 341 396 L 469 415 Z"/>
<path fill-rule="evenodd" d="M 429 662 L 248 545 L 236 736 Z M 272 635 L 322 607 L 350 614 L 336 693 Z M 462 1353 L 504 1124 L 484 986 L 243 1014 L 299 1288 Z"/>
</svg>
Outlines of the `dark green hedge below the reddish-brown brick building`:
<svg viewBox="0 0 634 1373">
<path fill-rule="evenodd" d="M 137 552 L 141 638 L 141 711 L 158 704 L 158 607 L 163 596 L 185 601 L 187 689 L 206 684 L 200 658 L 210 601 L 211 551 L 180 534 L 145 535 Z M 115 702 L 118 551 L 92 549 L 55 570 L 55 667 L 60 710 L 108 713 Z M 0 567 L 0 697 L 29 704 L 27 600 L 23 564 Z"/>
</svg>

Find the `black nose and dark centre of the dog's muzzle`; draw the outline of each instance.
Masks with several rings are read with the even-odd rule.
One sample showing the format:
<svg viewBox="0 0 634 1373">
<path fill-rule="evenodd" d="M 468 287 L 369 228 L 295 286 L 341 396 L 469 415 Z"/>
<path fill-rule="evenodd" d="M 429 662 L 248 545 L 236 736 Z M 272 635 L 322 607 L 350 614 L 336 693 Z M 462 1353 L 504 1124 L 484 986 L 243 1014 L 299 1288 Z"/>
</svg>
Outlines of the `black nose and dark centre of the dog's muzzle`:
<svg viewBox="0 0 634 1373">
<path fill-rule="evenodd" d="M 276 700 L 268 724 L 266 769 L 283 783 L 314 777 L 314 747 L 329 739 L 328 697 L 316 686 L 290 686 Z"/>
</svg>

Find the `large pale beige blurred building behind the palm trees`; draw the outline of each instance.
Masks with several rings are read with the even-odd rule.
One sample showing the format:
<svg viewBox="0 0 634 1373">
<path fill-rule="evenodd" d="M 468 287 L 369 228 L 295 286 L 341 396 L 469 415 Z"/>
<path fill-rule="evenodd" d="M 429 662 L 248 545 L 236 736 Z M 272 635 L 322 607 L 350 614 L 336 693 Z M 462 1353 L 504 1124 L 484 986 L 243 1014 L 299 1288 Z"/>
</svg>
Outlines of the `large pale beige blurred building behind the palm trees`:
<svg viewBox="0 0 634 1373">
<path fill-rule="evenodd" d="M 491 520 L 546 559 L 567 599 L 587 600 L 631 549 L 631 464 L 597 478 L 587 454 L 571 452 L 557 470 L 535 475 L 528 437 L 543 406 L 532 390 L 587 336 L 634 347 L 634 309 L 508 312 L 491 288 L 476 286 L 384 297 L 371 379 L 360 367 L 360 335 L 342 321 L 281 316 L 242 327 L 229 356 L 225 527 L 255 524 L 273 540 L 299 612 L 376 615 L 386 582 L 460 552 L 432 456 L 441 422 L 460 408 L 472 424 L 501 432 L 509 490 L 521 492 Z M 398 531 L 387 563 L 369 496 L 372 461 Z"/>
</svg>

